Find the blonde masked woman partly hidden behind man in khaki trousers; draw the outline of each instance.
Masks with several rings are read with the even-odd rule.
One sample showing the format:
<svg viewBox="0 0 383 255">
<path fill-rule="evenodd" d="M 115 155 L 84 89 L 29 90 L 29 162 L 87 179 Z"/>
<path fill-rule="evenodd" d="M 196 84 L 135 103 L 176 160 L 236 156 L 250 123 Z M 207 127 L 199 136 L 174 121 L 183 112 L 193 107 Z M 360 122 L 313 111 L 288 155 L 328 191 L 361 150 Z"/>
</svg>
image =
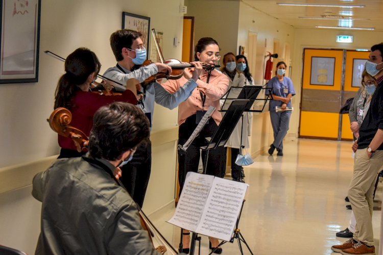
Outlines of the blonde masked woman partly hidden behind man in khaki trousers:
<svg viewBox="0 0 383 255">
<path fill-rule="evenodd" d="M 376 89 L 375 79 L 367 73 L 366 70 L 362 73 L 362 86 L 356 92 L 354 100 L 350 106 L 348 117 L 350 118 L 350 129 L 354 135 L 354 142 L 356 142 L 359 137 L 359 129 L 362 125 L 362 121 L 370 108 L 370 101 L 373 93 Z M 348 197 L 347 197 L 348 198 Z M 343 230 L 338 232 L 337 237 L 346 237 L 350 238 L 355 232 L 356 220 L 354 213 L 351 212 L 350 224 Z"/>
</svg>

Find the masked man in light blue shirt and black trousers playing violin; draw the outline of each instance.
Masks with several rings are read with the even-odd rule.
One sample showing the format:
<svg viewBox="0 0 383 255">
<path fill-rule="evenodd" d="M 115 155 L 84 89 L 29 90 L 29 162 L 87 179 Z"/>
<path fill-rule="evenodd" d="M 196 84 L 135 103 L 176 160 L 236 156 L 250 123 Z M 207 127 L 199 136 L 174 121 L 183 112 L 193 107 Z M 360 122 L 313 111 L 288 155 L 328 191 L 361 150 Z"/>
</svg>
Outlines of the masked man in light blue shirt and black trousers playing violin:
<svg viewBox="0 0 383 255">
<path fill-rule="evenodd" d="M 104 76 L 116 82 L 126 84 L 130 78 L 137 79 L 140 83 L 158 72 L 172 72 L 172 69 L 162 63 L 153 63 L 147 66 L 140 66 L 146 60 L 146 48 L 141 40 L 142 34 L 133 30 L 118 30 L 110 36 L 110 46 L 117 61 L 116 66 L 109 68 Z M 140 88 L 145 94 L 142 104 L 138 105 L 152 122 L 154 103 L 168 109 L 174 109 L 185 101 L 197 87 L 197 80 L 202 71 L 200 62 L 193 62 L 193 71 L 185 71 L 186 82 L 179 90 L 170 93 L 159 83 L 153 82 L 144 88 Z M 140 207 L 149 183 L 151 171 L 151 142 L 148 139 L 138 146 L 131 162 L 124 166 L 124 175 L 121 181 L 133 200 Z M 137 170 L 139 167 L 139 171 Z"/>
</svg>

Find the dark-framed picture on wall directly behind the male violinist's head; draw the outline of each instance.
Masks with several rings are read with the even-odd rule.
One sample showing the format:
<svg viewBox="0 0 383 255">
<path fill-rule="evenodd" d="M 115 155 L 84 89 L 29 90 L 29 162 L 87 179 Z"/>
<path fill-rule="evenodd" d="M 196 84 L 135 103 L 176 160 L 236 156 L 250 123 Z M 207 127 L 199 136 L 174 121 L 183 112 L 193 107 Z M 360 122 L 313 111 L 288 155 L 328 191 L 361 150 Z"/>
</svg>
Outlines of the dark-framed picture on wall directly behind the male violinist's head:
<svg viewBox="0 0 383 255">
<path fill-rule="evenodd" d="M 142 34 L 141 39 L 147 49 L 148 58 L 150 17 L 123 12 L 123 29 L 131 29 Z"/>
</svg>

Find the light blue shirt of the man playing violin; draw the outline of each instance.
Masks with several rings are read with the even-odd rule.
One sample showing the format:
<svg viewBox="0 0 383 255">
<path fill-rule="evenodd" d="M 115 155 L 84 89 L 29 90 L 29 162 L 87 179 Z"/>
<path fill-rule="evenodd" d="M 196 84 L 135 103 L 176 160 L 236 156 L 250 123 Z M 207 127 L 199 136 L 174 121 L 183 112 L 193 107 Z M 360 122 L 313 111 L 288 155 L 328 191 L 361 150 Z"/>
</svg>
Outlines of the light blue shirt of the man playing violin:
<svg viewBox="0 0 383 255">
<path fill-rule="evenodd" d="M 137 79 L 141 83 L 158 72 L 155 64 L 140 67 L 134 71 L 127 70 L 122 66 L 120 67 L 125 71 L 125 73 L 117 66 L 114 66 L 106 70 L 104 76 L 126 86 L 127 81 L 131 78 Z M 147 113 L 147 115 L 150 114 L 152 123 L 154 103 L 172 110 L 192 95 L 192 92 L 196 87 L 197 83 L 193 79 L 189 79 L 182 87 L 179 88 L 179 90 L 171 94 L 165 90 L 161 84 L 154 82 L 146 87 L 143 105 L 140 104 L 137 106 L 140 107 L 143 112 Z"/>
</svg>

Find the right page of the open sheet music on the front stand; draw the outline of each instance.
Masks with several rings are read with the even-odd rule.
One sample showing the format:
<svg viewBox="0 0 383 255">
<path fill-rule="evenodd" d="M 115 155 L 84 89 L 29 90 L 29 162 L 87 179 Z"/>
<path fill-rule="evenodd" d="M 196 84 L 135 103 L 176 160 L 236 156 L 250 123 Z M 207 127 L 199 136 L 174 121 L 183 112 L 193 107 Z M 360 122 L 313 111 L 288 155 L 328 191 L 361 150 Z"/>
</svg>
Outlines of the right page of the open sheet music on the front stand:
<svg viewBox="0 0 383 255">
<path fill-rule="evenodd" d="M 214 178 L 196 232 L 229 242 L 248 187 L 246 183 Z"/>
</svg>

